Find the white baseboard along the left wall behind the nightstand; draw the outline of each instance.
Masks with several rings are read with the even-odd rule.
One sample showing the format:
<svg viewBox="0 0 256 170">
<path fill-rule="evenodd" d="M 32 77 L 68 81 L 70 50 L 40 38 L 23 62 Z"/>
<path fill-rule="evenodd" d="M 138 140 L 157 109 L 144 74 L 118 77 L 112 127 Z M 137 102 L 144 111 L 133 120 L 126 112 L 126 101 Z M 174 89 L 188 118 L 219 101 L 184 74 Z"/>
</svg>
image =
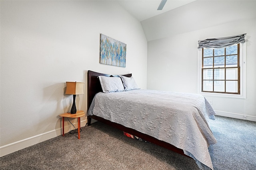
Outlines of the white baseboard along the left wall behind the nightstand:
<svg viewBox="0 0 256 170">
<path fill-rule="evenodd" d="M 81 125 L 83 125 L 83 124 L 85 125 L 85 123 L 83 123 L 85 121 L 86 120 L 81 121 Z M 73 124 L 76 125 L 77 123 L 73 123 Z M 77 127 L 77 125 L 75 127 Z M 64 133 L 68 133 L 69 131 L 74 130 L 74 127 L 72 125 L 65 126 L 64 130 L 65 130 Z M 40 135 L 36 135 L 33 137 L 29 137 L 27 139 L 23 139 L 23 140 L 14 142 L 14 143 L 10 143 L 8 145 L 4 145 L 4 146 L 0 147 L 0 157 L 5 156 L 10 153 L 13 153 L 13 152 L 16 152 L 18 150 L 30 147 L 32 145 L 36 145 L 43 141 L 47 141 L 48 139 L 52 139 L 52 138 L 60 136 L 60 135 L 62 135 L 62 128 L 55 129 L 55 130 L 52 130 L 52 131 L 49 131 L 46 133 L 42 133 Z"/>
</svg>

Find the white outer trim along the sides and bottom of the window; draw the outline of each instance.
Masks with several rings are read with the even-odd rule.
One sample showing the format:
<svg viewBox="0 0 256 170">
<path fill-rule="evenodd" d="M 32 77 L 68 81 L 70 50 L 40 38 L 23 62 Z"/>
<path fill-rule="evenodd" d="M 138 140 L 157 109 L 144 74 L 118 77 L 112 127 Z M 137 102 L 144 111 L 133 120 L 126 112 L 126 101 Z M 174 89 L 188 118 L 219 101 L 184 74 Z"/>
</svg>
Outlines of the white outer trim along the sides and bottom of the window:
<svg viewBox="0 0 256 170">
<path fill-rule="evenodd" d="M 240 94 L 202 92 L 202 49 L 198 49 L 198 94 L 227 98 L 246 98 L 246 42 L 240 43 Z"/>
</svg>

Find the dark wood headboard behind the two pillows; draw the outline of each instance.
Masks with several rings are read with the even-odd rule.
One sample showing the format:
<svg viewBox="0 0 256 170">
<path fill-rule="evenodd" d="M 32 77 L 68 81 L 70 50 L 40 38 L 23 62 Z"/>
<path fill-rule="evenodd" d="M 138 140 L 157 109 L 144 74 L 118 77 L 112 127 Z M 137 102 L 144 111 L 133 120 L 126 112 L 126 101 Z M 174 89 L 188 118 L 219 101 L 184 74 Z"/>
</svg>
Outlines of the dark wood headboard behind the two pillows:
<svg viewBox="0 0 256 170">
<path fill-rule="evenodd" d="M 103 73 L 88 70 L 88 75 L 87 75 L 87 82 L 88 82 L 88 86 L 87 86 L 87 110 L 89 109 L 94 96 L 98 92 L 102 92 L 102 88 L 100 86 L 100 80 L 98 79 L 98 76 L 118 77 L 118 75 L 103 74 Z M 131 77 L 132 74 L 125 74 L 123 76 Z"/>
</svg>

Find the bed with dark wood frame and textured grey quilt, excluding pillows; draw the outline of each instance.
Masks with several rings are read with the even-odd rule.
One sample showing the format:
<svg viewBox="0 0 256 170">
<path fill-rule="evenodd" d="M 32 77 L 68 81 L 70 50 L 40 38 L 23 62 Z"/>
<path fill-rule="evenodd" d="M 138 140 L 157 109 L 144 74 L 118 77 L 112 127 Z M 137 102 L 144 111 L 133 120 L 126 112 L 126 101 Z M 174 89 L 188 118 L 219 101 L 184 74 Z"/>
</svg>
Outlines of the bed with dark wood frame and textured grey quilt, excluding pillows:
<svg viewBox="0 0 256 170">
<path fill-rule="evenodd" d="M 91 119 L 101 121 L 193 158 L 202 170 L 213 170 L 208 147 L 215 144 L 216 139 L 207 119 L 214 119 L 215 112 L 203 96 L 139 88 L 125 90 L 124 84 L 124 91 L 103 92 L 101 78 L 111 77 L 124 83 L 132 74 L 120 78 L 88 70 L 88 125 Z"/>
</svg>

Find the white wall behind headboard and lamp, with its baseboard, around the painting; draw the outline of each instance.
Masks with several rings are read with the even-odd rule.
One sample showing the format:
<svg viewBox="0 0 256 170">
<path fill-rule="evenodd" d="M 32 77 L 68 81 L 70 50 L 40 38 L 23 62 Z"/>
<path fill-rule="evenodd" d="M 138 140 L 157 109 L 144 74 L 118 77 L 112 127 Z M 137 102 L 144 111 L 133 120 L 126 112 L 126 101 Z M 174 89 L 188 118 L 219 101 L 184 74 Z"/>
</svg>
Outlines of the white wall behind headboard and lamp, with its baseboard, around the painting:
<svg viewBox="0 0 256 170">
<path fill-rule="evenodd" d="M 66 81 L 87 70 L 132 73 L 146 87 L 147 40 L 139 21 L 111 1 L 1 1 L 1 156 L 61 134 Z M 99 63 L 100 33 L 126 43 L 126 68 Z M 87 94 L 77 95 L 87 110 Z M 85 125 L 86 117 L 81 119 Z M 71 120 L 76 124 L 77 120 Z M 66 131 L 70 123 L 65 122 Z M 70 128 L 69 128 L 70 127 Z"/>
</svg>

